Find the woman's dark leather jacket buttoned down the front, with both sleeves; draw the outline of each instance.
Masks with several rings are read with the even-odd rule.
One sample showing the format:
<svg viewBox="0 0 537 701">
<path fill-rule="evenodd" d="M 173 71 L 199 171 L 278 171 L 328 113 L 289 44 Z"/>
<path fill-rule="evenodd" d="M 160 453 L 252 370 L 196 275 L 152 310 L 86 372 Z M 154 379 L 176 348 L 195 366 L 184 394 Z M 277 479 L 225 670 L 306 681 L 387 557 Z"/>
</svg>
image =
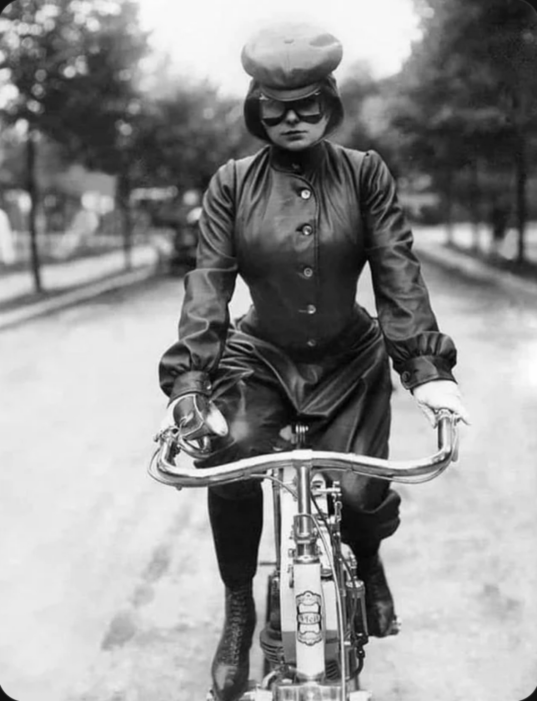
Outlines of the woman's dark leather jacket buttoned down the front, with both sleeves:
<svg viewBox="0 0 537 701">
<path fill-rule="evenodd" d="M 163 391 L 171 399 L 210 393 L 238 273 L 250 288 L 254 336 L 290 358 L 318 362 L 364 313 L 355 298 L 366 263 L 403 386 L 454 379 L 456 349 L 438 329 L 395 181 L 379 154 L 323 140 L 296 154 L 267 146 L 229 161 L 203 198 L 179 341 L 161 360 Z"/>
</svg>

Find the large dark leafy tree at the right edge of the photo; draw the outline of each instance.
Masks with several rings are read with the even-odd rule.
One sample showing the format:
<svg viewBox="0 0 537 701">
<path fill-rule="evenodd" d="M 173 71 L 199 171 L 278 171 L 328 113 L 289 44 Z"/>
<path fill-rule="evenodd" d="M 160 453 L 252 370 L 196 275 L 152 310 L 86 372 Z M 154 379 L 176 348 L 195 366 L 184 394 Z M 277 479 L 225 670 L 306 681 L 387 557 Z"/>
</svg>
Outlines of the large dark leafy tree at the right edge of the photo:
<svg viewBox="0 0 537 701">
<path fill-rule="evenodd" d="M 461 194 L 476 221 L 483 173 L 515 174 L 522 261 L 537 137 L 535 15 L 520 0 L 419 0 L 416 7 L 423 39 L 402 71 L 393 123 L 421 165 L 440 173 L 444 195 L 465 179 Z"/>
</svg>

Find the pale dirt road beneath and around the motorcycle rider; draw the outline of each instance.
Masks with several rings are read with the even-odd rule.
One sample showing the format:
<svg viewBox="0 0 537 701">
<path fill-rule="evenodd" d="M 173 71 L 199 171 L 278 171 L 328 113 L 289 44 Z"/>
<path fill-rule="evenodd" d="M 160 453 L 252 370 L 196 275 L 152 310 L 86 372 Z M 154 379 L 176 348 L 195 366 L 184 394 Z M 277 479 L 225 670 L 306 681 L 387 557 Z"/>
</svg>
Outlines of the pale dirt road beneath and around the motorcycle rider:
<svg viewBox="0 0 537 701">
<path fill-rule="evenodd" d="M 536 299 L 425 273 L 473 426 L 458 465 L 400 489 L 383 553 L 403 629 L 369 644 L 362 683 L 379 701 L 519 701 L 537 684 Z M 0 334 L 0 685 L 18 701 L 205 697 L 222 621 L 205 494 L 145 474 L 181 287 Z M 402 388 L 394 414 L 392 455 L 430 452 Z"/>
</svg>

